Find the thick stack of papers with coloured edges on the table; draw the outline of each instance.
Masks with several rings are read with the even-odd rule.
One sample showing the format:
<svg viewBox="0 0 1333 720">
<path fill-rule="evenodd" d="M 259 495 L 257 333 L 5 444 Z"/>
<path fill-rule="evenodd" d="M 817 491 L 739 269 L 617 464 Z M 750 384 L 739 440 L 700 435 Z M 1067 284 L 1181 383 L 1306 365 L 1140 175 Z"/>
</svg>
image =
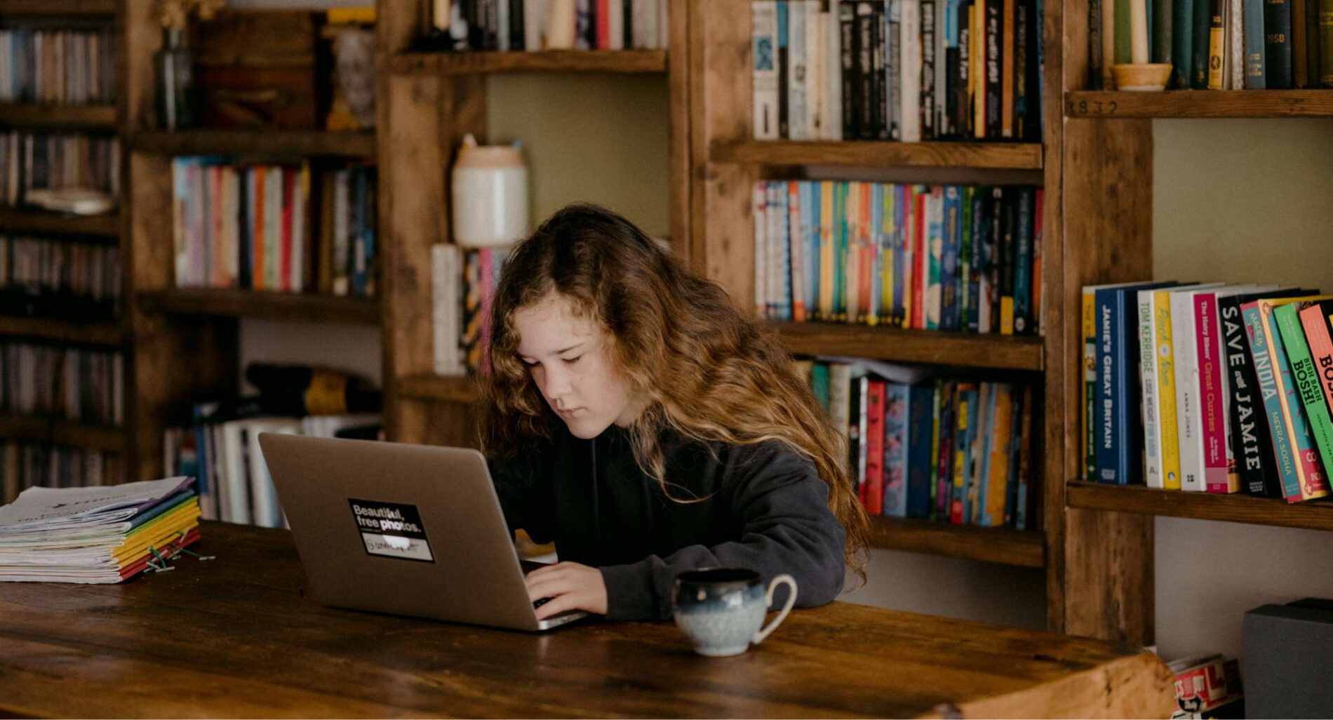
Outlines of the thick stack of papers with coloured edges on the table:
<svg viewBox="0 0 1333 720">
<path fill-rule="evenodd" d="M 199 540 L 192 477 L 28 488 L 0 507 L 0 581 L 120 583 Z"/>
</svg>

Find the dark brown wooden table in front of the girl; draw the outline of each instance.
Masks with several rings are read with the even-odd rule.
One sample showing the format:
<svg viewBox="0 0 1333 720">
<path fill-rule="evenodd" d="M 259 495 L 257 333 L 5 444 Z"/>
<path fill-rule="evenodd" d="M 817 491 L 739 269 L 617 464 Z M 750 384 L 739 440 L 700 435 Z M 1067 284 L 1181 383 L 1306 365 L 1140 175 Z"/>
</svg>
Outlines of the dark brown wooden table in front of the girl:
<svg viewBox="0 0 1333 720">
<path fill-rule="evenodd" d="M 324 608 L 291 535 L 205 523 L 121 585 L 0 583 L 0 716 L 1166 717 L 1133 647 L 834 603 L 696 656 L 670 623 L 551 635 Z M 411 592 L 404 588 L 403 592 Z"/>
</svg>

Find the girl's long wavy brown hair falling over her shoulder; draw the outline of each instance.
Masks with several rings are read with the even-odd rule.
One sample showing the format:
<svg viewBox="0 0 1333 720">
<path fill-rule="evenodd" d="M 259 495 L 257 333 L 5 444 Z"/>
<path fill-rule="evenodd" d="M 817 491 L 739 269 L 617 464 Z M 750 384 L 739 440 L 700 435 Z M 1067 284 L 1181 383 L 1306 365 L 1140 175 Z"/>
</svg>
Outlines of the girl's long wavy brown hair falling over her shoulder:
<svg viewBox="0 0 1333 720">
<path fill-rule="evenodd" d="M 865 579 L 869 520 L 846 465 L 846 443 L 761 321 L 633 223 L 605 208 L 560 209 L 505 260 L 496 289 L 484 452 L 512 456 L 549 437 L 560 417 L 519 359 L 515 311 L 556 292 L 609 333 L 612 360 L 648 407 L 629 431 L 640 468 L 670 496 L 659 437 L 733 445 L 777 440 L 809 457 L 846 531 L 844 557 Z M 689 499 L 677 501 L 689 501 Z"/>
</svg>

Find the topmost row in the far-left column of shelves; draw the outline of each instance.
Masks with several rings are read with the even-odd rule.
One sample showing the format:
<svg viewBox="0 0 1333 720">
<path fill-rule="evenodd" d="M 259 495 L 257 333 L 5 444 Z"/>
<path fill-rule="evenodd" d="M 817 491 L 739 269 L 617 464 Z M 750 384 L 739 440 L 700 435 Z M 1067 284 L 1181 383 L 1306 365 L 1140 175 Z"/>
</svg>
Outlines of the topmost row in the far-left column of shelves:
<svg viewBox="0 0 1333 720">
<path fill-rule="evenodd" d="M 116 35 L 87 29 L 0 29 L 0 103 L 116 101 Z"/>
</svg>

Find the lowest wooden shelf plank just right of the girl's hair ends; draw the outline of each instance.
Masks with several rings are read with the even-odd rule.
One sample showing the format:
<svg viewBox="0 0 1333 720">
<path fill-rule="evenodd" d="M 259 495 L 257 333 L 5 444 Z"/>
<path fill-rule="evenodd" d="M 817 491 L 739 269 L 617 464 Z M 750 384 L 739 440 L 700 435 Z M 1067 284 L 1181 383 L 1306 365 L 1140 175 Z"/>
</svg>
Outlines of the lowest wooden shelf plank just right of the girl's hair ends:
<svg viewBox="0 0 1333 720">
<path fill-rule="evenodd" d="M 978 528 L 934 520 L 872 517 L 870 545 L 1024 568 L 1042 568 L 1046 564 L 1045 536 L 1041 532 L 1013 528 Z"/>
</svg>

